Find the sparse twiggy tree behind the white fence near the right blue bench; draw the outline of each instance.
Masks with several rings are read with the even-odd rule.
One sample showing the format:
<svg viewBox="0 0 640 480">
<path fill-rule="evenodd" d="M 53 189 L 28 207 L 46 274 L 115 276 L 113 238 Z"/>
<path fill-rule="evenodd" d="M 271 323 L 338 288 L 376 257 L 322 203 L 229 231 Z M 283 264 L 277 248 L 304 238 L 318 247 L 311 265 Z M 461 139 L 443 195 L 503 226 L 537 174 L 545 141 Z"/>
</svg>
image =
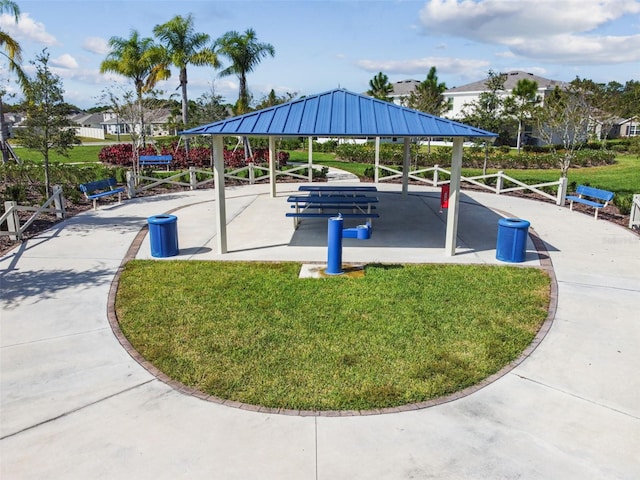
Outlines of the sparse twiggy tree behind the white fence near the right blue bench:
<svg viewBox="0 0 640 480">
<path fill-rule="evenodd" d="M 556 88 L 547 95 L 538 115 L 538 131 L 549 144 L 562 144 L 558 158 L 560 173 L 567 176 L 571 162 L 587 139 L 593 108 L 589 93 L 574 80 L 566 88 Z"/>
</svg>

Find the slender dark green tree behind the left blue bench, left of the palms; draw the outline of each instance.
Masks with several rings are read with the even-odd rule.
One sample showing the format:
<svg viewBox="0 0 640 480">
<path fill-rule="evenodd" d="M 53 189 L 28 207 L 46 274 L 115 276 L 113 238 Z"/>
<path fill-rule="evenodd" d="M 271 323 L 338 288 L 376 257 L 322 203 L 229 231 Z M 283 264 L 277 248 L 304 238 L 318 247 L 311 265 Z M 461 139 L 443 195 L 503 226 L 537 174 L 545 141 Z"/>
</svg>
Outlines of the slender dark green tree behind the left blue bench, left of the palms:
<svg viewBox="0 0 640 480">
<path fill-rule="evenodd" d="M 69 128 L 72 127 L 70 106 L 63 98 L 62 79 L 49 69 L 49 53 L 44 50 L 31 63 L 36 67 L 36 74 L 25 92 L 25 128 L 20 129 L 17 136 L 22 146 L 42 154 L 48 198 L 51 193 L 49 153 L 53 150 L 66 156 L 80 139 L 75 129 Z"/>
</svg>

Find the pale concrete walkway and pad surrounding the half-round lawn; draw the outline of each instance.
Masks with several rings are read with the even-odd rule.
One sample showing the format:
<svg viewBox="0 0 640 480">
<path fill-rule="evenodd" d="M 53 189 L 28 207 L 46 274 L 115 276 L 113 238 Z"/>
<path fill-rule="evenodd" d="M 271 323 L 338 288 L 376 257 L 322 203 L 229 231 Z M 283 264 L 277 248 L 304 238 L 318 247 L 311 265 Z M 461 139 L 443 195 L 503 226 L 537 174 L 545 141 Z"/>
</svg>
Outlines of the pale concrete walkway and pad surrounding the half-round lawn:
<svg viewBox="0 0 640 480">
<path fill-rule="evenodd" d="M 640 478 L 640 238 L 552 204 L 465 193 L 459 254 L 447 258 L 438 193 L 402 198 L 389 185 L 370 243 L 345 242 L 345 262 L 500 263 L 497 219 L 531 221 L 555 268 L 555 321 L 529 358 L 464 398 L 383 415 L 266 414 L 185 395 L 134 361 L 107 309 L 123 258 L 149 256 L 147 239 L 130 251 L 146 218 L 177 209 L 179 258 L 321 262 L 326 222 L 294 232 L 284 218 L 294 188 L 275 199 L 265 186 L 229 188 L 224 257 L 212 193 L 196 191 L 85 212 L 0 258 L 0 478 Z M 397 236 L 400 221 L 415 228 Z M 529 248 L 526 264 L 540 264 Z"/>
</svg>

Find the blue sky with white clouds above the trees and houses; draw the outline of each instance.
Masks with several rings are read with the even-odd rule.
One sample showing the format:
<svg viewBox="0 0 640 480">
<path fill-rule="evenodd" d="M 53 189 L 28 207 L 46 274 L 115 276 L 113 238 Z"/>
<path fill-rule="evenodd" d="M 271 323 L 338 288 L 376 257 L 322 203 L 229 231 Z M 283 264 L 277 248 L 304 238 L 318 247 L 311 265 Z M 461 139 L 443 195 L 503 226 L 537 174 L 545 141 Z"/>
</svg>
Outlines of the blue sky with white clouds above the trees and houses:
<svg viewBox="0 0 640 480">
<path fill-rule="evenodd" d="M 111 37 L 128 38 L 132 30 L 153 37 L 155 25 L 188 14 L 212 42 L 253 28 L 258 41 L 273 45 L 275 56 L 248 75 L 256 100 L 271 89 L 362 93 L 378 72 L 391 82 L 424 80 L 431 66 L 448 88 L 482 80 L 490 70 L 561 81 L 640 80 L 640 0 L 15 1 L 18 23 L 5 13 L 0 30 L 22 46 L 23 68 L 33 73 L 29 62 L 47 49 L 65 101 L 81 108 L 103 104 L 108 89 L 133 89 L 131 80 L 100 73 Z M 190 66 L 189 98 L 213 88 L 234 103 L 238 80 L 219 72 Z M 19 92 L 1 63 L 0 82 L 8 93 Z M 174 70 L 158 88 L 179 100 L 178 82 Z"/>
</svg>

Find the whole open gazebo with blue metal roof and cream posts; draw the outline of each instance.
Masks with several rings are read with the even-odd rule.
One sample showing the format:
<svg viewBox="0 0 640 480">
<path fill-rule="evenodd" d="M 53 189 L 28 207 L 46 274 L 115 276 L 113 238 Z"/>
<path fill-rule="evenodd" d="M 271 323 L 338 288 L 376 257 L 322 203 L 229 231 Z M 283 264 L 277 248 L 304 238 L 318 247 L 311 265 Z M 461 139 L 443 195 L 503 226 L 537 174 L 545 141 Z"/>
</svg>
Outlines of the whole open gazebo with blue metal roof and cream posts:
<svg viewBox="0 0 640 480">
<path fill-rule="evenodd" d="M 269 182 L 276 196 L 276 139 L 281 137 L 402 138 L 404 141 L 402 194 L 408 194 L 410 145 L 412 138 L 453 138 L 451 183 L 445 254 L 455 255 L 460 200 L 462 147 L 465 138 L 496 137 L 495 133 L 417 110 L 359 95 L 343 89 L 293 100 L 237 117 L 220 120 L 179 133 L 210 135 L 213 144 L 214 186 L 217 200 L 217 249 L 227 253 L 225 209 L 225 136 L 267 137 L 269 139 Z"/>
</svg>

